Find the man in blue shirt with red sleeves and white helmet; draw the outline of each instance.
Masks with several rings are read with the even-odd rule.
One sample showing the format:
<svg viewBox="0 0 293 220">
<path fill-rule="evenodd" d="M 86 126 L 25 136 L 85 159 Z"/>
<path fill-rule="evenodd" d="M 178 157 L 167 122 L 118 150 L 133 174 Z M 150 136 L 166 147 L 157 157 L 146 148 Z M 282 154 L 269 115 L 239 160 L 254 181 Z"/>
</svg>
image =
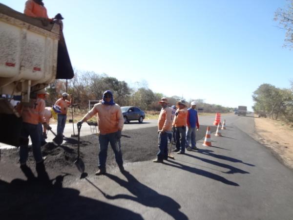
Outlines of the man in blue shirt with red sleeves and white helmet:
<svg viewBox="0 0 293 220">
<path fill-rule="evenodd" d="M 188 151 L 190 151 L 191 149 L 198 150 L 198 148 L 196 147 L 195 137 L 196 137 L 196 131 L 199 130 L 199 122 L 198 122 L 197 110 L 195 110 L 195 108 L 196 108 L 196 102 L 191 102 L 190 108 L 187 110 L 186 147 Z"/>
</svg>

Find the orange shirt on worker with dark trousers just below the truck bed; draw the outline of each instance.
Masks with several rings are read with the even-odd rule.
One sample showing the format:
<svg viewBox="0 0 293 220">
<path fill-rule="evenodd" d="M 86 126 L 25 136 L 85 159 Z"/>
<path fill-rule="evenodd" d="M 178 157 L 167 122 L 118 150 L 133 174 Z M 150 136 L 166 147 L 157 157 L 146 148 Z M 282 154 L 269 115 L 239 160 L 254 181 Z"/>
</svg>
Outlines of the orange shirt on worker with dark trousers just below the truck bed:
<svg viewBox="0 0 293 220">
<path fill-rule="evenodd" d="M 46 122 L 44 117 L 45 106 L 46 104 L 43 99 L 30 99 L 28 106 L 20 103 L 16 110 L 21 114 L 23 122 L 37 125 L 39 122 Z"/>
</svg>

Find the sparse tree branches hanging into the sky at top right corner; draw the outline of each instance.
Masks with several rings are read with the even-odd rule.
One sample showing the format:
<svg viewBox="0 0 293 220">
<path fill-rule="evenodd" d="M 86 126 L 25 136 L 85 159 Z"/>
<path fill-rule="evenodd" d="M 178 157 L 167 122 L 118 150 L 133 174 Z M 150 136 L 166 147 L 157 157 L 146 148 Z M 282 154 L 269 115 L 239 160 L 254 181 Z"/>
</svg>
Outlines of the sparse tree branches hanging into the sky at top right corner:
<svg viewBox="0 0 293 220">
<path fill-rule="evenodd" d="M 278 8 L 274 21 L 279 22 L 280 28 L 286 30 L 284 46 L 293 47 L 293 0 L 288 0 L 286 8 Z"/>
</svg>

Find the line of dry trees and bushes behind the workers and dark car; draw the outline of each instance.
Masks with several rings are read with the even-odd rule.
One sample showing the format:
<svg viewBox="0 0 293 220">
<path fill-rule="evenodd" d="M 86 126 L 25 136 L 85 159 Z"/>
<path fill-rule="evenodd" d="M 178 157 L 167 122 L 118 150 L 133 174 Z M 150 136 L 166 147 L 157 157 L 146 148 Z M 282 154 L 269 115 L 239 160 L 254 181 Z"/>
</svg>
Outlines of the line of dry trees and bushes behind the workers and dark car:
<svg viewBox="0 0 293 220">
<path fill-rule="evenodd" d="M 146 111 L 147 118 L 157 117 L 155 115 L 161 110 L 158 101 L 165 96 L 163 93 L 152 91 L 147 86 L 147 82 L 136 82 L 133 85 L 125 81 L 119 81 L 115 77 L 95 72 L 82 72 L 75 70 L 75 76 L 67 82 L 67 92 L 74 97 L 74 103 L 79 104 L 80 110 L 88 110 L 89 100 L 100 100 L 105 90 L 111 90 L 114 100 L 120 106 L 137 106 Z M 66 81 L 55 80 L 49 85 L 47 90 L 50 96 L 47 99 L 47 105 L 53 105 L 60 95 L 66 91 Z M 165 96 L 166 97 L 166 96 Z M 170 106 L 175 105 L 184 97 L 167 97 Z M 203 99 L 190 99 L 186 101 L 196 101 L 198 108 L 204 108 L 204 112 L 231 112 L 233 108 L 227 108 L 220 105 L 204 103 Z M 85 112 L 86 112 L 85 111 Z"/>
</svg>

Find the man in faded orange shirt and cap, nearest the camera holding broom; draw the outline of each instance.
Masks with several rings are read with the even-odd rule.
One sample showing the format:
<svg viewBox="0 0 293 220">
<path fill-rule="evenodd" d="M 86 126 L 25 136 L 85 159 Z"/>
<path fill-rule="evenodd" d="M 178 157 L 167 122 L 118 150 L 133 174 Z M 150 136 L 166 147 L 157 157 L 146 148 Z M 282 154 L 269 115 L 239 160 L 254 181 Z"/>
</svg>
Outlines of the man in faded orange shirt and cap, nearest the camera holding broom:
<svg viewBox="0 0 293 220">
<path fill-rule="evenodd" d="M 163 163 L 163 160 L 168 159 L 168 134 L 172 134 L 172 109 L 168 107 L 167 98 L 162 98 L 159 103 L 162 109 L 158 119 L 159 152 L 157 159 L 153 160 L 155 163 Z"/>
</svg>

